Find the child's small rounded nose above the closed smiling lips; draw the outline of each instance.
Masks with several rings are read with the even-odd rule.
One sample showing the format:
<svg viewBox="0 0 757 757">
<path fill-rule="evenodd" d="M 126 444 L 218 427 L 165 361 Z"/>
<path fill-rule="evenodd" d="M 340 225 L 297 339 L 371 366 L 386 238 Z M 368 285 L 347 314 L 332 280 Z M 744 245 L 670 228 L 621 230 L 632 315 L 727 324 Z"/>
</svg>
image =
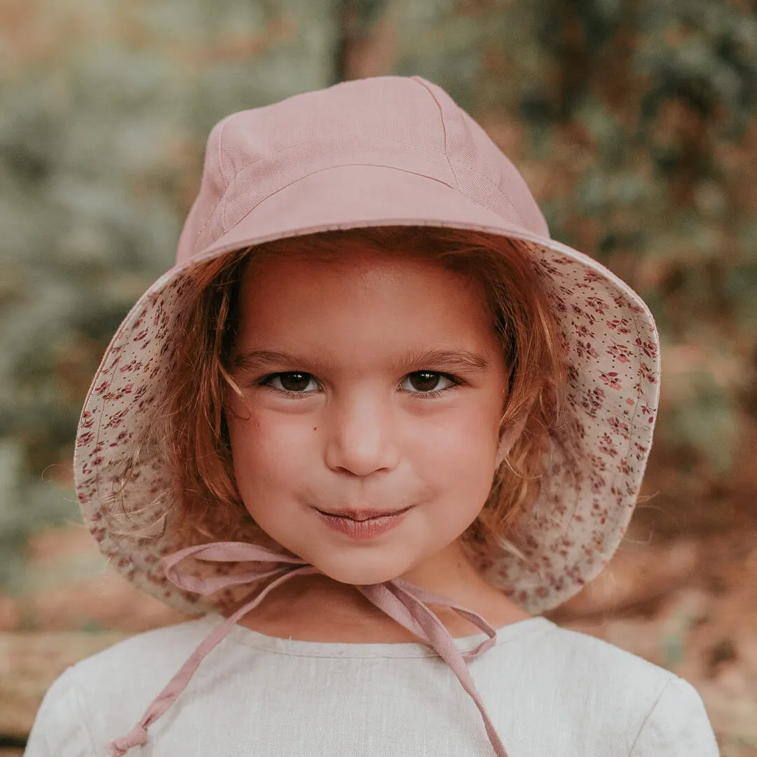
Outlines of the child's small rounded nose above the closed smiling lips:
<svg viewBox="0 0 757 757">
<path fill-rule="evenodd" d="M 394 413 L 366 393 L 335 401 L 326 419 L 326 465 L 354 475 L 391 470 L 399 462 Z"/>
</svg>

